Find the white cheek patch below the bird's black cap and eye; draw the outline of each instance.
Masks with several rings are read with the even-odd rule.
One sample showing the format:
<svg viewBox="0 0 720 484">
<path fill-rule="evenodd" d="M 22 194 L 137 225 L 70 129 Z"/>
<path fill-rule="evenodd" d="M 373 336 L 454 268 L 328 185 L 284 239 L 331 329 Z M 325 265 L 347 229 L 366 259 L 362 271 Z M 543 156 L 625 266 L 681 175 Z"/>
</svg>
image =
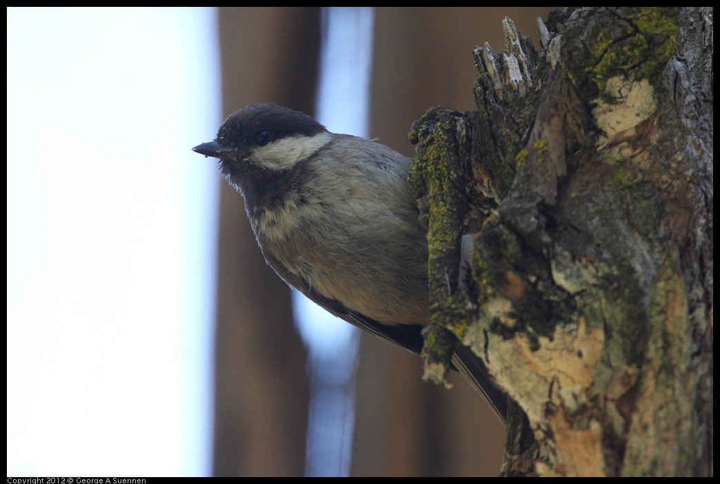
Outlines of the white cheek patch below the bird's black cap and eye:
<svg viewBox="0 0 720 484">
<path fill-rule="evenodd" d="M 332 134 L 325 131 L 314 136 L 294 136 L 275 140 L 265 146 L 253 148 L 251 161 L 273 171 L 290 169 L 298 161 L 323 148 Z"/>
</svg>

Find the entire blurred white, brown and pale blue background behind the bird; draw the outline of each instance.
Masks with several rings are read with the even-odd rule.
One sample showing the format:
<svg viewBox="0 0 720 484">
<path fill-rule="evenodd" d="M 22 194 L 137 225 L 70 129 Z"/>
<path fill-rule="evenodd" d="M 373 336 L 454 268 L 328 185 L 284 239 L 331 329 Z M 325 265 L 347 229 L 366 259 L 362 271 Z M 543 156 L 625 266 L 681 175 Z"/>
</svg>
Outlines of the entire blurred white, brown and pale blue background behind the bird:
<svg viewBox="0 0 720 484">
<path fill-rule="evenodd" d="M 485 401 L 293 295 L 190 148 L 274 102 L 413 156 L 553 8 L 9 7 L 7 474 L 497 475 Z"/>
</svg>

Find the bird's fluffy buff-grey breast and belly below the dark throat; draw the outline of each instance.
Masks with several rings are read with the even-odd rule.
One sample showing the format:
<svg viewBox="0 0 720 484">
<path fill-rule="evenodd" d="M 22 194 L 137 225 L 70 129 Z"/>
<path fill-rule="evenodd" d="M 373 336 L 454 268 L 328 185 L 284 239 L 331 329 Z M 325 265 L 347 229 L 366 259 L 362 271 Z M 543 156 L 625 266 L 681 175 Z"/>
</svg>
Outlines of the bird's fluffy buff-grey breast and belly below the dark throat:
<svg viewBox="0 0 720 484">
<path fill-rule="evenodd" d="M 427 320 L 427 248 L 413 215 L 400 217 L 358 200 L 328 204 L 287 197 L 256 215 L 267 256 L 307 287 L 388 324 Z M 408 219 L 409 220 L 406 220 Z M 277 269 L 276 269 L 277 270 Z"/>
</svg>

